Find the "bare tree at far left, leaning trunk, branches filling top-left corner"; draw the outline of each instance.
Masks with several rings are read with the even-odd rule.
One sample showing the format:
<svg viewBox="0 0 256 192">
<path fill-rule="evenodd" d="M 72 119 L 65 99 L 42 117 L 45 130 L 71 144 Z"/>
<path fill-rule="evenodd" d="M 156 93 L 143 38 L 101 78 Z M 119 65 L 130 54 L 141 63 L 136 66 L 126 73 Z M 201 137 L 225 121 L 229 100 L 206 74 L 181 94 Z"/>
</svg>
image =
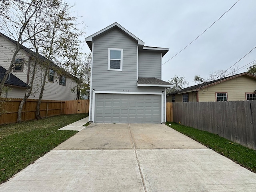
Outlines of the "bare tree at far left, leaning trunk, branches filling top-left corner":
<svg viewBox="0 0 256 192">
<path fill-rule="evenodd" d="M 10 66 L 2 81 L 0 82 L 0 96 L 2 95 L 4 83 L 10 74 L 10 72 L 15 67 L 15 58 L 18 52 L 22 48 L 22 44 L 28 42 L 30 39 L 34 38 L 37 34 L 41 33 L 44 29 L 37 28 L 32 36 L 26 34 L 26 28 L 35 19 L 37 12 L 40 12 L 46 6 L 55 3 L 56 0 L 4 0 L 0 4 L 0 26 L 6 35 L 14 38 L 16 40 L 15 49 L 12 50 L 13 56 L 10 62 Z"/>
</svg>

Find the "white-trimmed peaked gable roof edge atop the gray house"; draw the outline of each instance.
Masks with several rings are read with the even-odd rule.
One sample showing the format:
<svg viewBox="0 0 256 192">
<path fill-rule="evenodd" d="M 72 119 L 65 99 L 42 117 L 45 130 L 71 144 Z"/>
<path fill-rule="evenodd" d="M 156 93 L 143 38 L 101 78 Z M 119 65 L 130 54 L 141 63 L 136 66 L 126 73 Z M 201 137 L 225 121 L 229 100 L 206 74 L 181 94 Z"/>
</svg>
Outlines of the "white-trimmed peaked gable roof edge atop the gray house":
<svg viewBox="0 0 256 192">
<path fill-rule="evenodd" d="M 119 30 L 121 30 L 122 32 L 124 32 L 124 34 L 126 34 L 127 36 L 129 36 L 130 38 L 132 38 L 133 40 L 135 40 L 138 43 L 138 46 L 143 47 L 144 46 L 144 42 L 142 40 L 140 40 L 138 37 L 136 37 L 134 34 L 132 34 L 131 32 L 129 32 L 128 30 L 126 30 L 125 28 L 123 28 L 120 24 L 118 24 L 117 22 L 111 24 L 110 26 L 107 26 L 106 28 L 88 36 L 87 38 L 85 38 L 86 43 L 88 44 L 90 50 L 92 51 L 92 42 L 95 38 L 98 38 L 99 36 L 102 36 L 106 33 L 108 33 L 110 30 L 113 30 L 114 28 L 118 28 Z"/>
</svg>

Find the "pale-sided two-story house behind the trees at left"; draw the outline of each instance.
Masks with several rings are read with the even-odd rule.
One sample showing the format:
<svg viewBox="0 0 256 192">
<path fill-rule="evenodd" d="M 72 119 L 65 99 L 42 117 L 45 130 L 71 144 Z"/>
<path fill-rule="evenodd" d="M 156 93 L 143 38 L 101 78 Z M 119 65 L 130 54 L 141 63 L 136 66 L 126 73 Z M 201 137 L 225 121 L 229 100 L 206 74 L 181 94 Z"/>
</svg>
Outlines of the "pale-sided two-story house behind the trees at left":
<svg viewBox="0 0 256 192">
<path fill-rule="evenodd" d="M 0 66 L 5 70 L 8 70 L 10 62 L 13 56 L 13 50 L 15 49 L 16 41 L 0 33 Z M 9 83 L 6 80 L 5 86 L 8 86 L 8 91 L 4 95 L 7 98 L 24 98 L 26 86 L 30 85 L 30 78 L 32 76 L 32 68 L 34 66 L 34 58 L 36 53 L 32 50 L 21 46 L 22 49 L 18 52 L 15 62 L 17 65 L 12 70 L 10 78 L 14 79 L 15 82 L 19 82 L 22 86 L 17 86 L 15 83 Z M 46 58 L 39 54 L 40 61 L 45 61 Z M 1 72 L 3 69 L 1 68 Z M 37 65 L 36 78 L 33 84 L 33 95 L 30 99 L 38 99 L 42 80 L 43 72 L 45 71 L 44 66 L 41 64 Z M 60 75 L 61 74 L 61 75 Z M 3 75 L 0 76 L 0 80 Z M 71 92 L 71 89 L 76 86 L 74 81 L 75 77 L 64 71 L 62 68 L 54 63 L 50 63 L 50 69 L 48 70 L 48 78 L 46 78 L 46 84 L 44 86 L 44 94 L 42 99 L 44 100 L 74 100 L 76 99 L 76 93 Z M 21 83 L 23 82 L 23 83 Z M 26 85 L 26 86 L 23 86 Z"/>
</svg>

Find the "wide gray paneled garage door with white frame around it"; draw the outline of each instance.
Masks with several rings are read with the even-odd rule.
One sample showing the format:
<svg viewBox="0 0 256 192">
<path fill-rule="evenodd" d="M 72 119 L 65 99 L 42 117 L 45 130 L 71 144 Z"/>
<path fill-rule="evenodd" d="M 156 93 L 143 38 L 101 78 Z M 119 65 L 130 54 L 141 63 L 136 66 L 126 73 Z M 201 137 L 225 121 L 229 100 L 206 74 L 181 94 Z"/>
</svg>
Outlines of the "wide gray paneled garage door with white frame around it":
<svg viewBox="0 0 256 192">
<path fill-rule="evenodd" d="M 161 96 L 95 94 L 96 123 L 160 123 Z"/>
</svg>

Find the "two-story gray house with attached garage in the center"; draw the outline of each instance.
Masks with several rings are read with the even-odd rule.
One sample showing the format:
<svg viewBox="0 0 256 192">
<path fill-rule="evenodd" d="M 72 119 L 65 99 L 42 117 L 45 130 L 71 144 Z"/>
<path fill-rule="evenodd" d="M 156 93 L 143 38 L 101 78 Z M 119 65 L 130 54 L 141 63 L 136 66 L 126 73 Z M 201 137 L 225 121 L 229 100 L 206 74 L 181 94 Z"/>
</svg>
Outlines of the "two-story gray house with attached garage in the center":
<svg viewBox="0 0 256 192">
<path fill-rule="evenodd" d="M 114 23 L 86 38 L 92 51 L 89 121 L 163 123 L 166 88 L 162 57 L 168 48 L 144 42 Z"/>
</svg>

